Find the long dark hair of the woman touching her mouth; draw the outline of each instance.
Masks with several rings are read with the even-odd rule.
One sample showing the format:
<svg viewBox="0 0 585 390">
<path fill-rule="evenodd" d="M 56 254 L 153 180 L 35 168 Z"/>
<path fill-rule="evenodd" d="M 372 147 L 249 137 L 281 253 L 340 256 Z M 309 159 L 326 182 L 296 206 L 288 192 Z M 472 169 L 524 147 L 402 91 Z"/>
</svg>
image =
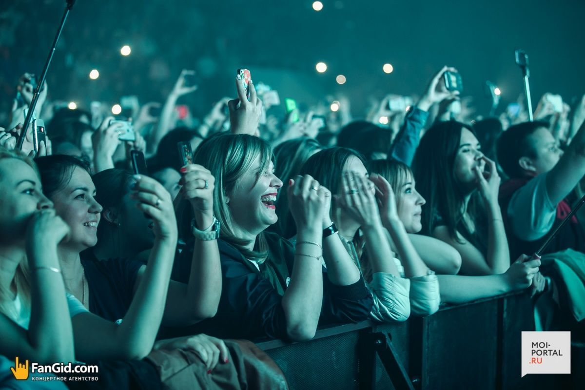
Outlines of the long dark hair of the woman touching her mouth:
<svg viewBox="0 0 585 390">
<path fill-rule="evenodd" d="M 412 171 L 417 181 L 417 191 L 426 199 L 422 206 L 422 234 L 431 236 L 439 220 L 447 226 L 451 239 L 470 241 L 480 250 L 487 248 L 484 234 L 470 232 L 463 220 L 465 193 L 455 177 L 455 157 L 459 150 L 461 132 L 467 129 L 475 135 L 472 127 L 450 120 L 436 123 L 425 133 L 412 162 Z M 483 218 L 483 204 L 479 192 L 473 191 L 467 205 L 467 214 L 478 221 Z M 481 227 L 476 223 L 476 227 Z"/>
</svg>

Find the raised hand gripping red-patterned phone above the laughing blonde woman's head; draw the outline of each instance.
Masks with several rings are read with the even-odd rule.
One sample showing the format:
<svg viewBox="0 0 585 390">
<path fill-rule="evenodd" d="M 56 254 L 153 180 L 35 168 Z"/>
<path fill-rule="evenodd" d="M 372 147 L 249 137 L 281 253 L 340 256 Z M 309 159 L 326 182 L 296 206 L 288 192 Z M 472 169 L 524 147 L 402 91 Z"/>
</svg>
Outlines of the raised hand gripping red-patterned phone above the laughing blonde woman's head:
<svg viewBox="0 0 585 390">
<path fill-rule="evenodd" d="M 229 122 L 232 134 L 256 134 L 262 114 L 262 101 L 256 95 L 256 88 L 252 80 L 248 84 L 250 101 L 246 97 L 246 91 L 242 82 L 236 78 L 238 99 L 228 102 Z M 240 105 L 238 106 L 238 103 Z"/>
</svg>

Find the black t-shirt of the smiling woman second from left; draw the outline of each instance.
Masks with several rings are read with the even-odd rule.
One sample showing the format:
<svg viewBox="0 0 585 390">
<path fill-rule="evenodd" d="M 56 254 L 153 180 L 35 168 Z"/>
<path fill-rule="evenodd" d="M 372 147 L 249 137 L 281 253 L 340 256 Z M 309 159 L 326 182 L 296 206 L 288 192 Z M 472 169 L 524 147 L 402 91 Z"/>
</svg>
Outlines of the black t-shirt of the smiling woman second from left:
<svg viewBox="0 0 585 390">
<path fill-rule="evenodd" d="M 81 259 L 90 289 L 90 312 L 115 322 L 130 307 L 142 261 L 128 258 L 97 260 L 93 254 Z"/>
</svg>

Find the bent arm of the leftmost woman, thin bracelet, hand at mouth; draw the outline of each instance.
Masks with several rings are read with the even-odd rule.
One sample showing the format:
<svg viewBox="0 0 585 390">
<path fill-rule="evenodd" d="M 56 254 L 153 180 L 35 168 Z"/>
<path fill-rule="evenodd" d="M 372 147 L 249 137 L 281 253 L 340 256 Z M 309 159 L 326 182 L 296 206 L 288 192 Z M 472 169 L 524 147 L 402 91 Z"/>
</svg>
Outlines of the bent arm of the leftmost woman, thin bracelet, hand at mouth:
<svg viewBox="0 0 585 390">
<path fill-rule="evenodd" d="M 30 265 L 29 329 L 0 315 L 1 354 L 40 364 L 75 360 L 65 285 L 57 258 L 57 244 L 68 232 L 68 226 L 53 209 L 40 210 L 29 222 L 26 234 Z"/>
</svg>

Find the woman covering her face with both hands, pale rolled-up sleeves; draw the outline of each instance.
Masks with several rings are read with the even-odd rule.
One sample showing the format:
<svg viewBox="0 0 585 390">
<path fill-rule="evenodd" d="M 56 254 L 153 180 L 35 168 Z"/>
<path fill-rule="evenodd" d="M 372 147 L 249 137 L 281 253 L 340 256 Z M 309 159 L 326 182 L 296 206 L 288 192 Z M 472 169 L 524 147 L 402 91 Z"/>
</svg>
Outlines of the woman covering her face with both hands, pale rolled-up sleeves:
<svg viewBox="0 0 585 390">
<path fill-rule="evenodd" d="M 314 175 L 335 191 L 331 219 L 339 234 L 325 240 L 345 248 L 345 257 L 360 265 L 374 296 L 370 316 L 404 321 L 411 312 L 422 316 L 436 312 L 440 302 L 436 276 L 412 247 L 388 182 L 369 178 L 363 157 L 341 147 L 314 154 L 301 173 Z M 391 242 L 401 260 L 394 256 Z"/>
</svg>

